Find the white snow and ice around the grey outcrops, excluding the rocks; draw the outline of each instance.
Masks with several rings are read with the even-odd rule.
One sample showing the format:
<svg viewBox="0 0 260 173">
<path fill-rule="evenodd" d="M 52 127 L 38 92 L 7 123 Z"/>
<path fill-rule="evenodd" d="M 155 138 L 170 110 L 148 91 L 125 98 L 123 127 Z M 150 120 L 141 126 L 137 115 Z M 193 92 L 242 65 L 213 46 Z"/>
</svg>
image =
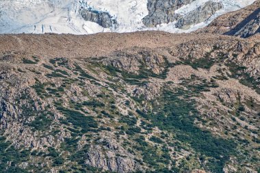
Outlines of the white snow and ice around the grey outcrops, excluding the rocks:
<svg viewBox="0 0 260 173">
<path fill-rule="evenodd" d="M 175 11 L 186 15 L 208 0 L 196 0 Z M 18 33 L 57 33 L 94 34 L 98 32 L 130 32 L 161 30 L 173 33 L 190 32 L 208 25 L 216 17 L 252 4 L 255 0 L 211 0 L 222 2 L 224 8 L 213 14 L 203 23 L 182 30 L 174 23 L 147 28 L 142 18 L 148 15 L 147 0 L 1 0 L 0 34 Z M 84 21 L 79 10 L 91 7 L 94 10 L 109 12 L 118 22 L 116 27 L 103 28 L 97 23 Z"/>
</svg>

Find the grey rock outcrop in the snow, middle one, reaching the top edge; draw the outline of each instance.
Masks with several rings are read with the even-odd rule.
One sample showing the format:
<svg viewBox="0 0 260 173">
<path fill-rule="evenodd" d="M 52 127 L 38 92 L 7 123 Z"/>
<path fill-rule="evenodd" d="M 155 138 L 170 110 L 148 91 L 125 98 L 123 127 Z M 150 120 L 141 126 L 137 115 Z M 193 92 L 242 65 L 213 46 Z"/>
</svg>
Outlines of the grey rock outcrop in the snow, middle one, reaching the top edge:
<svg viewBox="0 0 260 173">
<path fill-rule="evenodd" d="M 149 14 L 142 21 L 147 27 L 176 21 L 178 15 L 174 14 L 174 10 L 192 1 L 194 0 L 148 0 L 147 8 Z"/>
</svg>

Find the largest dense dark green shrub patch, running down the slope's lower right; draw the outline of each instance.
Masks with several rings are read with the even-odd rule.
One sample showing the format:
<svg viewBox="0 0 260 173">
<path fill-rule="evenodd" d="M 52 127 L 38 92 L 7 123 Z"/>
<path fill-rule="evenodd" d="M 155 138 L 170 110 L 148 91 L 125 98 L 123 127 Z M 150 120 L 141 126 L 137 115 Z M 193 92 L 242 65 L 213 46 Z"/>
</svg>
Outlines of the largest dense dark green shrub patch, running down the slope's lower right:
<svg viewBox="0 0 260 173">
<path fill-rule="evenodd" d="M 164 131 L 173 132 L 175 139 L 190 144 L 196 152 L 211 157 L 206 170 L 211 172 L 222 172 L 229 156 L 235 153 L 236 144 L 227 139 L 214 137 L 209 131 L 204 131 L 194 124 L 194 118 L 199 117 L 195 108 L 195 102 L 191 99 L 208 88 L 207 83 L 203 85 L 190 85 L 189 81 L 183 83 L 190 90 L 170 90 L 165 87 L 161 98 L 157 98 L 153 104 L 153 111 L 157 114 L 145 114 L 136 110 L 140 116 L 147 118 L 153 125 Z M 159 105 L 157 103 L 160 103 Z M 190 114 L 194 116 L 190 116 Z M 157 138 L 152 138 L 161 142 Z M 151 157 L 151 156 L 150 156 Z M 148 161 L 149 163 L 149 161 Z"/>
</svg>

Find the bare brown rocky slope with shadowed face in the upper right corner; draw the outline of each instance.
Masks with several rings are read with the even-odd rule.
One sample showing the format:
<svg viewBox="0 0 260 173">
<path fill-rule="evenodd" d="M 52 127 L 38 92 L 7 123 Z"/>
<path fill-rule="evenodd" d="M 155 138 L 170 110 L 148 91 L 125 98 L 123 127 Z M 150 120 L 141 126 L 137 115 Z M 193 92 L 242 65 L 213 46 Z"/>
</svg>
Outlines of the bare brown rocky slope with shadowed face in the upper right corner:
<svg viewBox="0 0 260 173">
<path fill-rule="evenodd" d="M 260 33 L 260 1 L 216 18 L 198 33 L 226 34 L 247 38 Z"/>
</svg>

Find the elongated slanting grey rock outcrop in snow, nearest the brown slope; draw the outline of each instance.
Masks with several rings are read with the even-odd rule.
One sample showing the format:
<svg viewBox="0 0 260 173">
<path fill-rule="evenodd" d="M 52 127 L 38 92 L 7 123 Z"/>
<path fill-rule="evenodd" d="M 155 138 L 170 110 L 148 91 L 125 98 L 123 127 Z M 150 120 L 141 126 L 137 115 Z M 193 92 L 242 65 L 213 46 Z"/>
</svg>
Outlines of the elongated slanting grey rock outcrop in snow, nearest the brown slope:
<svg viewBox="0 0 260 173">
<path fill-rule="evenodd" d="M 180 18 L 176 27 L 180 29 L 189 29 L 190 25 L 195 25 L 207 20 L 207 18 L 222 7 L 222 3 L 208 1 L 205 5 L 198 7 L 196 10 Z"/>
</svg>

